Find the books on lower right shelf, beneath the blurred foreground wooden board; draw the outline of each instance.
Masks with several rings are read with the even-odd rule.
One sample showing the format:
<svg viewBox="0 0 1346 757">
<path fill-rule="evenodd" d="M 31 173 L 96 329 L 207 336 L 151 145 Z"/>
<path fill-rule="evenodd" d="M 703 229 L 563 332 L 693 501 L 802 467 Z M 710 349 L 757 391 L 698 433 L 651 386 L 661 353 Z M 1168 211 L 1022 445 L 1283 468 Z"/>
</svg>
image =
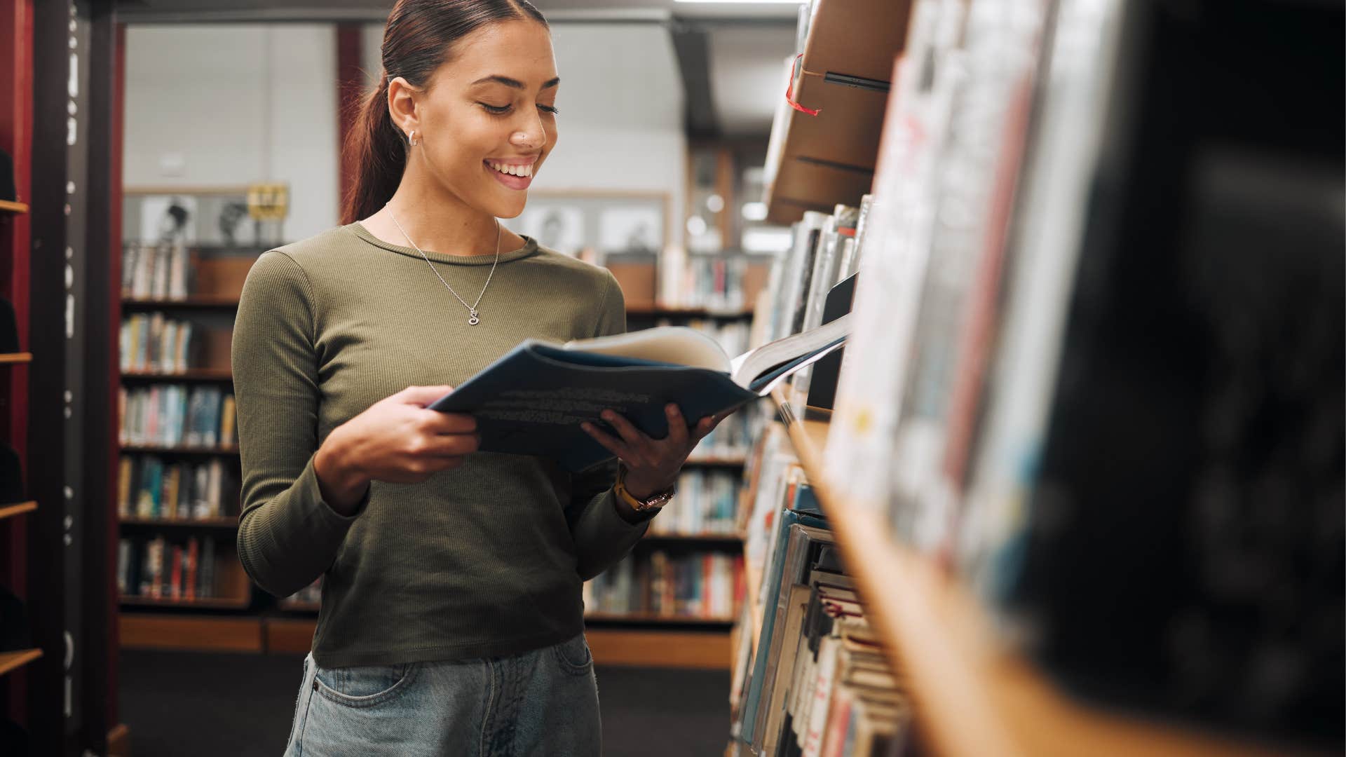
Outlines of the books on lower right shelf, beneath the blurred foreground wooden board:
<svg viewBox="0 0 1346 757">
<path fill-rule="evenodd" d="M 750 591 L 734 651 L 735 754 L 890 757 L 913 711 L 884 657 L 812 486 L 778 423 L 750 478 Z M 760 617 L 760 625 L 754 622 Z M 756 629 L 756 630 L 755 630 Z"/>
</svg>

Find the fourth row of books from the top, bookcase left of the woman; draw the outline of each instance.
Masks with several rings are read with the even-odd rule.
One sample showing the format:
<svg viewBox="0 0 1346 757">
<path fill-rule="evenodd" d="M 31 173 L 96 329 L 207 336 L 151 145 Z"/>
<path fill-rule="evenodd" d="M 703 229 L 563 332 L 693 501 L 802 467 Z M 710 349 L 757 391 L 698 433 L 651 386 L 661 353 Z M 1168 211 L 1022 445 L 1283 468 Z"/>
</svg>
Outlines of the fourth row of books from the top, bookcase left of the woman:
<svg viewBox="0 0 1346 757">
<path fill-rule="evenodd" d="M 168 463 L 156 455 L 121 455 L 117 461 L 120 517 L 201 520 L 236 515 L 233 466 L 215 458 Z"/>
</svg>

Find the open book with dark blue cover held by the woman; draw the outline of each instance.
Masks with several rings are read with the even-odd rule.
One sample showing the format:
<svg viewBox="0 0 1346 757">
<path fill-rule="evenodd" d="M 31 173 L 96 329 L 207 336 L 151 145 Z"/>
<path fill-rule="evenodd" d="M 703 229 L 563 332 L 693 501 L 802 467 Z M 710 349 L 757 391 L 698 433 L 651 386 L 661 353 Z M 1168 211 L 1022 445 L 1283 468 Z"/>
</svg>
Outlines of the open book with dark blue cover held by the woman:
<svg viewBox="0 0 1346 757">
<path fill-rule="evenodd" d="M 482 451 L 546 457 L 577 471 L 612 457 L 580 428 L 588 420 L 614 432 L 599 418 L 604 409 L 660 439 L 664 405 L 676 403 L 689 426 L 743 407 L 839 349 L 849 329 L 843 317 L 732 360 L 715 339 L 676 326 L 565 345 L 526 339 L 429 408 L 472 415 Z"/>
</svg>

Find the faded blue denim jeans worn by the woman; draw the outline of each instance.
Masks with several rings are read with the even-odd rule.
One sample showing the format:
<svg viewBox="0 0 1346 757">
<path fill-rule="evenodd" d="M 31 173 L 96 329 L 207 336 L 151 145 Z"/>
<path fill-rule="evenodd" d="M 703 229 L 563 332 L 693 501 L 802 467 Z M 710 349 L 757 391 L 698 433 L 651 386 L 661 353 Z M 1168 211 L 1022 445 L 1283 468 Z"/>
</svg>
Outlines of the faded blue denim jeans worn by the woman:
<svg viewBox="0 0 1346 757">
<path fill-rule="evenodd" d="M 584 634 L 511 657 L 322 668 L 304 657 L 285 757 L 596 757 Z"/>
</svg>

